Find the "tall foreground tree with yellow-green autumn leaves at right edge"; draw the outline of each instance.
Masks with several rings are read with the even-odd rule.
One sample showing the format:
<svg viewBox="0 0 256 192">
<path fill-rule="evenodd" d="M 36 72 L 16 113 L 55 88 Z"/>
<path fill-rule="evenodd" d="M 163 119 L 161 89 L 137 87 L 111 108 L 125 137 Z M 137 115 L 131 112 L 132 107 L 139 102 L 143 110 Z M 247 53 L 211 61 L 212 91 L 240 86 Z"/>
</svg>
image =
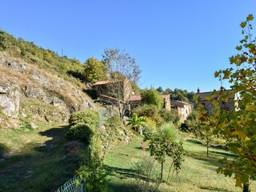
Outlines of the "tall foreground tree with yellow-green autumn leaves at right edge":
<svg viewBox="0 0 256 192">
<path fill-rule="evenodd" d="M 219 133 L 228 138 L 230 150 L 238 154 L 233 161 L 224 161 L 226 167 L 219 167 L 217 171 L 226 176 L 234 174 L 235 185 L 242 187 L 243 191 L 250 191 L 249 183 L 256 178 L 256 38 L 252 37 L 250 24 L 253 19 L 253 15 L 249 14 L 246 21 L 240 24 L 244 38 L 236 47 L 240 53 L 230 57 L 233 67 L 214 74 L 216 78 L 229 80 L 231 94 L 239 94 L 236 110 L 230 112 L 227 109 L 230 95 L 221 87 L 216 93 L 219 95 L 218 102 L 212 98 L 215 113 L 210 117 L 214 122 L 211 126 L 217 127 Z"/>
</svg>

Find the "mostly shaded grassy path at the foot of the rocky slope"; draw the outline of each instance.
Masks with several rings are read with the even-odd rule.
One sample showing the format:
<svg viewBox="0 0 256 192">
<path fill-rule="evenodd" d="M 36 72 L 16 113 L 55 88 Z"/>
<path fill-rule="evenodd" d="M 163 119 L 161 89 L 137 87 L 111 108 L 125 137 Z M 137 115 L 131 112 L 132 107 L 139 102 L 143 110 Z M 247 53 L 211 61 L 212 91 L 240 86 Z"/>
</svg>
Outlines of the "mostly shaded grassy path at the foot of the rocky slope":
<svg viewBox="0 0 256 192">
<path fill-rule="evenodd" d="M 54 191 L 74 176 L 78 156 L 67 154 L 67 126 L 0 130 L 0 191 Z"/>
</svg>

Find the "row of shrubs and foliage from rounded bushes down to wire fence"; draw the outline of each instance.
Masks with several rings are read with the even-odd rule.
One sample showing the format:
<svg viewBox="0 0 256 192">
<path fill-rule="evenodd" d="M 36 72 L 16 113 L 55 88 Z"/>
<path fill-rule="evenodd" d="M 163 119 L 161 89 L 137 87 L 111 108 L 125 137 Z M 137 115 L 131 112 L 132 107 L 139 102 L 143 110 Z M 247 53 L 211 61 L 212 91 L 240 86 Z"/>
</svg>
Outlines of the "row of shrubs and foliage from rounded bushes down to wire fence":
<svg viewBox="0 0 256 192">
<path fill-rule="evenodd" d="M 71 114 L 69 122 L 71 127 L 66 132 L 66 138 L 79 139 L 88 146 L 82 153 L 77 184 L 85 184 L 86 191 L 105 191 L 107 186 L 106 171 L 102 163 L 102 141 L 96 129 L 99 124 L 98 113 L 94 110 L 76 112 Z"/>
</svg>

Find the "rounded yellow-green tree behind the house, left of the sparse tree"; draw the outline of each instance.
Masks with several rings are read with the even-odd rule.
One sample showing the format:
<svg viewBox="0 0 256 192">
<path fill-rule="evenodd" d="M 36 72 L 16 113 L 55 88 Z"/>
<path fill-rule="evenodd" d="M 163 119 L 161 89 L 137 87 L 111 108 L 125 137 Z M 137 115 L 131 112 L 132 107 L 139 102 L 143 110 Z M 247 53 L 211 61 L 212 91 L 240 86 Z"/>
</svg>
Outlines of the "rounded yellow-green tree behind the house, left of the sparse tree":
<svg viewBox="0 0 256 192">
<path fill-rule="evenodd" d="M 106 66 L 97 58 L 88 58 L 84 64 L 86 82 L 106 80 Z"/>
</svg>

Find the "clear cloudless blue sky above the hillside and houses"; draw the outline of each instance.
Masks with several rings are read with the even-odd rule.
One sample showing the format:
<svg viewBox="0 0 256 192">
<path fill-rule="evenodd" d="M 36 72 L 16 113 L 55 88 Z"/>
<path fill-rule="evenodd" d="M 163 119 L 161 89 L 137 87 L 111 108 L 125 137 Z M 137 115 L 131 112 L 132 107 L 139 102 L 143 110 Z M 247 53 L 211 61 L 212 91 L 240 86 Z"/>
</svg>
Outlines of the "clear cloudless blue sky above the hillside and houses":
<svg viewBox="0 0 256 192">
<path fill-rule="evenodd" d="M 255 0 L 2 0 L 0 29 L 82 63 L 125 49 L 142 89 L 195 92 L 219 88 L 214 71 L 237 54 L 248 14 L 256 17 Z"/>
</svg>

